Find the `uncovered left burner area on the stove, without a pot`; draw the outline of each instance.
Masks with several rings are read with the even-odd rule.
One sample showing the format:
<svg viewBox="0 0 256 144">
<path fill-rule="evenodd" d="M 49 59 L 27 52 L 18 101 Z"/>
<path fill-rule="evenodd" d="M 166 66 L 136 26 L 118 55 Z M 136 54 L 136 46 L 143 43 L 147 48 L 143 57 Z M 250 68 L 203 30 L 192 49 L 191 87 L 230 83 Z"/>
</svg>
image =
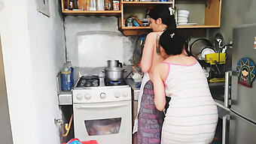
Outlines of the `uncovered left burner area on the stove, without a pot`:
<svg viewBox="0 0 256 144">
<path fill-rule="evenodd" d="M 99 86 L 99 76 L 92 75 L 92 76 L 82 76 L 76 87 L 83 88 L 83 87 L 97 87 Z"/>
</svg>

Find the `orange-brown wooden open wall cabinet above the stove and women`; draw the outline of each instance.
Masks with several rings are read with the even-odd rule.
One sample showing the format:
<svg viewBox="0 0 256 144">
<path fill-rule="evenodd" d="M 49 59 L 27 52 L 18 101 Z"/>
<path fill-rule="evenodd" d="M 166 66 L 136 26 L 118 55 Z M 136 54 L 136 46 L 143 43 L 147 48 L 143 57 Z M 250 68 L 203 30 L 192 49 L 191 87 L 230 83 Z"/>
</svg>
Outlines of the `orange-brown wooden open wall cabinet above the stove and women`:
<svg viewBox="0 0 256 144">
<path fill-rule="evenodd" d="M 178 28 L 218 28 L 221 26 L 221 0 L 172 0 L 172 1 L 122 1 L 120 0 L 120 10 L 67 10 L 62 1 L 62 13 L 66 15 L 85 15 L 85 16 L 116 16 L 119 18 L 119 28 L 125 35 L 145 34 L 151 31 L 150 27 L 127 27 L 124 20 L 131 14 L 136 14 L 139 19 L 145 18 L 148 7 L 154 5 L 169 5 L 177 10 L 190 10 L 188 17 L 189 24 Z"/>
</svg>

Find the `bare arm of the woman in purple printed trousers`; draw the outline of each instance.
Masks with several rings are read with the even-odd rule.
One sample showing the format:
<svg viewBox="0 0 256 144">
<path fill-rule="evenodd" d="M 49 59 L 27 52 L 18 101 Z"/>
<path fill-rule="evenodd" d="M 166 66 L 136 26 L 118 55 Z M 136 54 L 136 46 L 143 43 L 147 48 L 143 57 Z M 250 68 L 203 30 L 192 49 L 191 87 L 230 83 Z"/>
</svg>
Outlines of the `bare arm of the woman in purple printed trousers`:
<svg viewBox="0 0 256 144">
<path fill-rule="evenodd" d="M 149 33 L 147 35 L 145 46 L 142 53 L 141 65 L 142 65 L 142 71 L 144 73 L 148 72 L 151 69 L 154 46 L 155 46 L 155 34 Z"/>
</svg>

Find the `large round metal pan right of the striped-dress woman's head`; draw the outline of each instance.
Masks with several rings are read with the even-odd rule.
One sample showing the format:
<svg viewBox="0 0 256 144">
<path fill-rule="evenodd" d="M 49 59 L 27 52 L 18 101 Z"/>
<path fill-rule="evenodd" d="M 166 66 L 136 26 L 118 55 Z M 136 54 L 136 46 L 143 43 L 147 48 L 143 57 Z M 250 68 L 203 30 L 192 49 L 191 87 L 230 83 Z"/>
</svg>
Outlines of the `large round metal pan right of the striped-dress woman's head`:
<svg viewBox="0 0 256 144">
<path fill-rule="evenodd" d="M 199 38 L 197 40 L 194 40 L 194 42 L 190 44 L 190 52 L 195 58 L 198 58 L 198 55 L 207 46 L 212 46 L 212 43 L 205 38 Z"/>
</svg>

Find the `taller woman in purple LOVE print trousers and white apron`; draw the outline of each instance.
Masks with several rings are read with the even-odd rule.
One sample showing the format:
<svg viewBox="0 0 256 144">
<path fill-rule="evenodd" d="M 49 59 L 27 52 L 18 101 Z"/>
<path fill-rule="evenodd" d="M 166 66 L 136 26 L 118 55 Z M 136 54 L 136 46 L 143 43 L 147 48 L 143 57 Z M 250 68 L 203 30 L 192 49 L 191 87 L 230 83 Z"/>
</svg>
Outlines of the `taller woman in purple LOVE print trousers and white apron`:
<svg viewBox="0 0 256 144">
<path fill-rule="evenodd" d="M 138 131 L 138 144 L 160 144 L 164 114 L 154 105 L 153 71 L 164 59 L 160 55 L 158 45 L 160 35 L 166 29 L 175 29 L 176 24 L 172 7 L 157 5 L 148 15 L 153 32 L 147 35 L 142 52 L 141 67 L 144 77 L 139 92 L 138 113 L 133 133 Z"/>
</svg>

